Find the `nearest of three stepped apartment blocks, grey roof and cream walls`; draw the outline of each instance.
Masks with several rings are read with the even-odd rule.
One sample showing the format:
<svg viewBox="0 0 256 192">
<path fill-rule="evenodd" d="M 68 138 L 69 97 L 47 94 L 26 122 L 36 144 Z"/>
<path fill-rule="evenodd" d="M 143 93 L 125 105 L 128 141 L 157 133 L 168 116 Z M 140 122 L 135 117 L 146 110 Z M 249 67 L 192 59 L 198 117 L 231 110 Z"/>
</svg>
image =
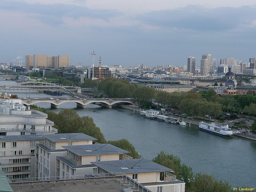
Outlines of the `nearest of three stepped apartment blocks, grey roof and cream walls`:
<svg viewBox="0 0 256 192">
<path fill-rule="evenodd" d="M 127 175 L 153 192 L 185 192 L 185 182 L 176 179 L 172 169 L 149 159 L 92 162 L 98 174 Z"/>
</svg>

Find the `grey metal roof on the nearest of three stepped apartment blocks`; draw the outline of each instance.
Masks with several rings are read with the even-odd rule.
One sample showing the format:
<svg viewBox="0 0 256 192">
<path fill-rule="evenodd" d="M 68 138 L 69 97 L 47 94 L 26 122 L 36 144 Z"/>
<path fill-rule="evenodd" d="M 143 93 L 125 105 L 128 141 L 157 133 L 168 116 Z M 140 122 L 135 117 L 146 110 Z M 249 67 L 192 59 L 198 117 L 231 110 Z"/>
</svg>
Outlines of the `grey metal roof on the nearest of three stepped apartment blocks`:
<svg viewBox="0 0 256 192">
<path fill-rule="evenodd" d="M 152 162 L 149 159 L 127 159 L 127 160 L 115 160 L 115 161 L 99 161 L 91 162 L 97 167 L 114 174 L 128 174 L 128 173 L 145 173 L 145 172 L 162 172 L 170 171 L 172 169 L 163 165 Z"/>
</svg>

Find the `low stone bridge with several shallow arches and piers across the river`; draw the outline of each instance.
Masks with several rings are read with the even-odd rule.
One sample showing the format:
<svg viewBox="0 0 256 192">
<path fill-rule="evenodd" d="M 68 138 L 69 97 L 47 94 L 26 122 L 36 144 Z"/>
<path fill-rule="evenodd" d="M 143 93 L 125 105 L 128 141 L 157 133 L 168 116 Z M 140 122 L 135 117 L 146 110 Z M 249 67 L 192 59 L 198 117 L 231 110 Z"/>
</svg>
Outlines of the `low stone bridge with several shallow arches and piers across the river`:
<svg viewBox="0 0 256 192">
<path fill-rule="evenodd" d="M 132 100 L 130 99 L 93 99 L 93 98 L 88 98 L 88 99 L 78 99 L 78 98 L 59 98 L 59 99 L 53 99 L 53 98 L 31 98 L 31 99 L 26 99 L 23 98 L 21 99 L 22 104 L 26 106 L 34 105 L 36 103 L 40 102 L 46 102 L 46 103 L 51 103 L 51 107 L 53 108 L 59 108 L 59 106 L 63 103 L 67 102 L 75 102 L 77 104 L 77 107 L 80 108 L 86 108 L 86 105 L 90 103 L 95 103 L 99 102 L 103 107 L 108 107 L 112 108 L 112 105 L 116 103 L 127 103 L 127 104 L 134 104 Z"/>
</svg>

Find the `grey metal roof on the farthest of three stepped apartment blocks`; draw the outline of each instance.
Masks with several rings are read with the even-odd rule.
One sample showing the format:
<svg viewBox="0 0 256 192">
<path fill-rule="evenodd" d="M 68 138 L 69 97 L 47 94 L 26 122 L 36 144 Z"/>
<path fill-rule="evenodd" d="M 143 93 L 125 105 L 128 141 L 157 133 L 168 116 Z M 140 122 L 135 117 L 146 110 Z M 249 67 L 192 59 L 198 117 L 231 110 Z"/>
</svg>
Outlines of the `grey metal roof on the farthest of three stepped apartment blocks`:
<svg viewBox="0 0 256 192">
<path fill-rule="evenodd" d="M 96 138 L 86 135 L 84 133 L 45 134 L 43 135 L 43 137 L 52 142 L 97 140 Z"/>
</svg>

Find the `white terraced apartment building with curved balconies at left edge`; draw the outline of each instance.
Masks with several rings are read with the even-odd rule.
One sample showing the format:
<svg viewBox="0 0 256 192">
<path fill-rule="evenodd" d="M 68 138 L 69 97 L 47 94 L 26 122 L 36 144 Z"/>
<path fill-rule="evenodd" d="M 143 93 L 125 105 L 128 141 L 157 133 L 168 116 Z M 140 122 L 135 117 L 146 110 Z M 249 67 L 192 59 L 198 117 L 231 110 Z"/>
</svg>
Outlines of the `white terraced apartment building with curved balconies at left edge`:
<svg viewBox="0 0 256 192">
<path fill-rule="evenodd" d="M 27 110 L 21 100 L 0 99 L 0 135 L 35 135 L 57 133 L 47 114 Z"/>
</svg>

